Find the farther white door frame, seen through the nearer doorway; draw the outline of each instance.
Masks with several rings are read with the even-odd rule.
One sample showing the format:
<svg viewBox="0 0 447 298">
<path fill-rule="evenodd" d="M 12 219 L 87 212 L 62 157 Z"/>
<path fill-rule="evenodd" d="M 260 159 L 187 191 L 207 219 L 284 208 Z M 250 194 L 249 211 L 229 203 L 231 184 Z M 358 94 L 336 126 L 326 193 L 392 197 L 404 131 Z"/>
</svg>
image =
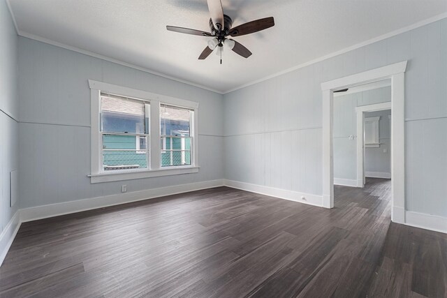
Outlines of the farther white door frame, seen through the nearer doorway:
<svg viewBox="0 0 447 298">
<path fill-rule="evenodd" d="M 376 103 L 374 105 L 362 105 L 356 107 L 357 118 L 357 187 L 363 187 L 365 184 L 365 134 L 363 133 L 365 112 L 376 112 L 383 110 L 392 110 L 391 102 Z M 393 129 L 391 130 L 393 131 Z"/>
</svg>

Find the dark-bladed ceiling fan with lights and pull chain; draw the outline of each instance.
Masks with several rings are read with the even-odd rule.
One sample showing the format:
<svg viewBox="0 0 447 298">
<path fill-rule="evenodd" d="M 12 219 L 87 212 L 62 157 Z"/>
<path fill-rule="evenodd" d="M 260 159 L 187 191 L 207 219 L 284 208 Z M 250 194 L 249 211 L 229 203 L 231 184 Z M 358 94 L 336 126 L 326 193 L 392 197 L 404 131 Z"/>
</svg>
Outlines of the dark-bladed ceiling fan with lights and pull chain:
<svg viewBox="0 0 447 298">
<path fill-rule="evenodd" d="M 233 50 L 236 54 L 240 54 L 240 56 L 244 58 L 248 58 L 251 56 L 251 52 L 244 47 L 236 40 L 228 38 L 228 36 L 236 37 L 247 35 L 250 33 L 255 33 L 264 29 L 268 29 L 274 26 L 273 17 L 265 17 L 260 20 L 251 21 L 237 27 L 231 28 L 233 25 L 233 20 L 228 15 L 223 14 L 223 8 L 221 0 L 207 0 L 208 10 L 210 10 L 210 31 L 205 32 L 201 30 L 183 28 L 183 27 L 174 27 L 174 26 L 166 26 L 166 29 L 169 31 L 175 31 L 179 33 L 186 33 L 198 36 L 207 36 L 212 37 L 211 40 L 208 40 L 208 46 L 205 47 L 202 54 L 198 57 L 199 60 L 206 59 L 210 54 L 217 48 L 217 54 L 221 56 L 221 64 L 222 64 L 222 49 L 223 45 L 226 45 L 230 50 Z"/>
</svg>

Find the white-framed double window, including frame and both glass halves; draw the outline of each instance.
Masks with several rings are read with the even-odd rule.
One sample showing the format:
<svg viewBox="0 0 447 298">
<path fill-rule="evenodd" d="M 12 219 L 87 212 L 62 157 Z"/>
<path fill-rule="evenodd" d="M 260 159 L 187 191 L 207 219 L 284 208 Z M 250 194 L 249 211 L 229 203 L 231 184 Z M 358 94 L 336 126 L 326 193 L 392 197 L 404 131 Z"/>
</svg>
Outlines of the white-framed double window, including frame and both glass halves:
<svg viewBox="0 0 447 298">
<path fill-rule="evenodd" d="M 89 85 L 91 183 L 198 172 L 198 103 Z"/>
</svg>

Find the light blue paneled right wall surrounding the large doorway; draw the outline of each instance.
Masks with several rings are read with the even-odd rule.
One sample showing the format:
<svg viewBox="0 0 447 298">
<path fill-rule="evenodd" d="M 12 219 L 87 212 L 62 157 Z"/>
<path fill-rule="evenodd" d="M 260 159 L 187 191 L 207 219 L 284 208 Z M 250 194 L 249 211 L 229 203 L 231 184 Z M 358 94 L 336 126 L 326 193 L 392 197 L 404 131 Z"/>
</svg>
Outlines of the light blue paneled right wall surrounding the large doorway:
<svg viewBox="0 0 447 298">
<path fill-rule="evenodd" d="M 321 82 L 404 60 L 406 209 L 447 217 L 446 19 L 226 94 L 226 178 L 322 195 Z"/>
</svg>

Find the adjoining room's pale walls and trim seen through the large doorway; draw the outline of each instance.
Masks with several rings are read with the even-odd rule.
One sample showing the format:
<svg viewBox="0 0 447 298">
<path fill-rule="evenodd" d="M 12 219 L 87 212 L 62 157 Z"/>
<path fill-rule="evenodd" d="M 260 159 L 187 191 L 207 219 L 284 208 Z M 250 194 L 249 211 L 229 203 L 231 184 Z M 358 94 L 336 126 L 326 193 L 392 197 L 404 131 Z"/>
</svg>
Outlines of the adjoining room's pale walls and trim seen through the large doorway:
<svg viewBox="0 0 447 298">
<path fill-rule="evenodd" d="M 384 176 L 375 172 L 387 172 L 387 178 L 390 178 L 390 118 L 382 112 L 385 109 L 390 112 L 390 101 L 389 79 L 334 92 L 335 185 L 363 187 L 365 174 L 376 178 Z M 380 150 L 385 152 L 379 154 Z M 372 161 L 369 162 L 367 157 Z M 373 161 L 378 161 L 381 166 L 376 168 Z"/>
</svg>

